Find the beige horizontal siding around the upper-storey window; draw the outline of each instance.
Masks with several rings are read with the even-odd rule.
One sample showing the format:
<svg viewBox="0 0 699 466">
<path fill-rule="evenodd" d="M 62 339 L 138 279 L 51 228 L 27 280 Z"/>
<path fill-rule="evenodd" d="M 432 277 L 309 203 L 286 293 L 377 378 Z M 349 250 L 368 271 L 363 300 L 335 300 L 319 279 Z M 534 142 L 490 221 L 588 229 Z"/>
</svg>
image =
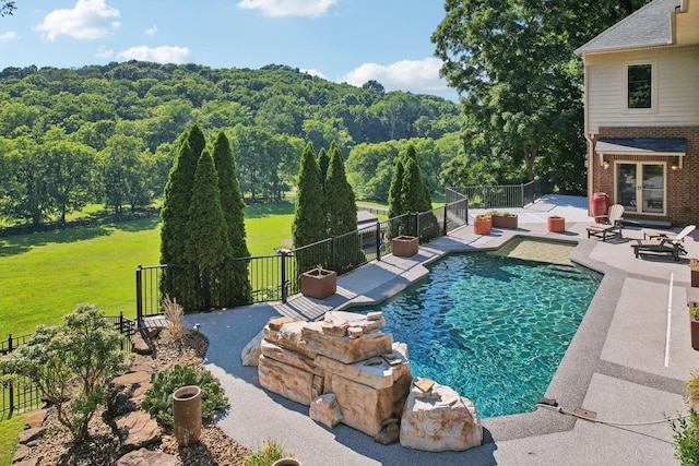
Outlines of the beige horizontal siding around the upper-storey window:
<svg viewBox="0 0 699 466">
<path fill-rule="evenodd" d="M 655 67 L 653 109 L 627 109 L 628 62 Z M 699 47 L 588 55 L 585 64 L 588 131 L 597 133 L 600 127 L 699 124 Z"/>
</svg>

